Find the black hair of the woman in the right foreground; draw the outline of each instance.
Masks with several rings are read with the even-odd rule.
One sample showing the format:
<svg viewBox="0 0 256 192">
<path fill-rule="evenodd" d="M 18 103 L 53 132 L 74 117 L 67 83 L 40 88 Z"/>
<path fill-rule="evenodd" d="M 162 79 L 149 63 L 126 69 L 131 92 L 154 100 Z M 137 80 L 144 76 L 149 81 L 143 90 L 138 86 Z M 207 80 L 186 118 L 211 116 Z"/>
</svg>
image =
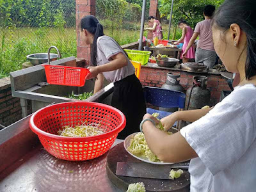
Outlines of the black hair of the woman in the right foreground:
<svg viewBox="0 0 256 192">
<path fill-rule="evenodd" d="M 247 57 L 245 63 L 246 79 L 256 75 L 256 1 L 226 0 L 216 11 L 213 23 L 226 31 L 231 24 L 237 24 L 247 38 Z"/>
</svg>

